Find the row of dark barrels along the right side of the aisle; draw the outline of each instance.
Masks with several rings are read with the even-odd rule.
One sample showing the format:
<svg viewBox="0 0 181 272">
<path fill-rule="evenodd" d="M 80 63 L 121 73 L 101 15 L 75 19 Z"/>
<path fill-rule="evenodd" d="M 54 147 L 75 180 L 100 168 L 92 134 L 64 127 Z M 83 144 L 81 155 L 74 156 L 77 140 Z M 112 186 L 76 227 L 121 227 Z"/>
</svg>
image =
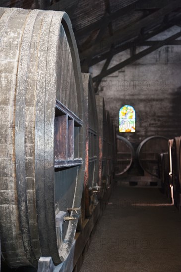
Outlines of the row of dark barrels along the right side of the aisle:
<svg viewBox="0 0 181 272">
<path fill-rule="evenodd" d="M 167 152 L 160 154 L 158 165 L 165 193 L 181 209 L 181 136 L 169 139 Z"/>
</svg>

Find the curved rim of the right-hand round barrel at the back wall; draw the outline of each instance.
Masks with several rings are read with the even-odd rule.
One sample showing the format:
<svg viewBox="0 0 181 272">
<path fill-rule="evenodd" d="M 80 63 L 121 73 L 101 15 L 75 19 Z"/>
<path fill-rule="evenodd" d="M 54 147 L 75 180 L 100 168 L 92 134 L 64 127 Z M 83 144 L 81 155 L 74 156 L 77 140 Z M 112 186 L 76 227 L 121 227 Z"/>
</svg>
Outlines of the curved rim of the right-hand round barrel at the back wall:
<svg viewBox="0 0 181 272">
<path fill-rule="evenodd" d="M 136 156 L 138 158 L 138 162 L 139 162 L 139 165 L 140 167 L 143 169 L 143 171 L 147 172 L 148 174 L 152 175 L 152 176 L 155 176 L 155 177 L 158 177 L 158 174 L 155 174 L 155 173 L 152 173 L 150 170 L 148 169 L 145 169 L 144 166 L 142 165 L 141 163 L 141 160 L 140 160 L 140 153 L 141 153 L 141 149 L 143 148 L 144 144 L 147 143 L 149 140 L 152 140 L 154 138 L 158 138 L 158 139 L 163 139 L 163 140 L 166 140 L 168 142 L 168 139 L 164 136 L 150 136 L 148 138 L 145 138 L 140 144 L 139 146 L 137 147 L 137 150 L 136 150 Z M 167 150 L 160 150 L 159 153 L 162 153 L 164 151 L 167 151 Z M 158 153 L 158 154 L 159 154 Z M 158 158 L 157 160 L 155 160 L 155 165 L 157 165 L 158 167 L 158 164 L 157 164 L 157 161 L 158 161 Z"/>
</svg>

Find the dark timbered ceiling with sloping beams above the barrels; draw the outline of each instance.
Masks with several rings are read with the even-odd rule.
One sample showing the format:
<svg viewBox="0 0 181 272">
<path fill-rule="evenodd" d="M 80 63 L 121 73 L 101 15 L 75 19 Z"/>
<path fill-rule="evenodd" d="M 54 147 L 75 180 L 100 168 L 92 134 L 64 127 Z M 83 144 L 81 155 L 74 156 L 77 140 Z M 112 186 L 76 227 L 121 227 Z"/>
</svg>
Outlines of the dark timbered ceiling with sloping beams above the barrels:
<svg viewBox="0 0 181 272">
<path fill-rule="evenodd" d="M 163 45 L 181 45 L 181 31 L 163 40 L 150 38 L 174 25 L 181 27 L 181 0 L 0 0 L 0 6 L 66 11 L 78 45 L 82 72 L 106 60 L 93 78 L 98 88 L 103 77 Z M 136 52 L 136 46 L 143 50 Z M 146 49 L 144 49 L 146 46 Z M 108 68 L 113 56 L 125 49 L 130 56 Z"/>
</svg>

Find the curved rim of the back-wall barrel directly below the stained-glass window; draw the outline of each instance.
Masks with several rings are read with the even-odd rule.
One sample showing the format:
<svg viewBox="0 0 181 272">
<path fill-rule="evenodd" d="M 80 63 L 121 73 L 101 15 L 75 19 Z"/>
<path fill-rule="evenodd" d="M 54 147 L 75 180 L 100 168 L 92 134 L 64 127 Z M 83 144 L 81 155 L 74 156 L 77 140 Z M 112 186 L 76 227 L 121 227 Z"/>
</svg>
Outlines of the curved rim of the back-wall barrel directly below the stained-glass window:
<svg viewBox="0 0 181 272">
<path fill-rule="evenodd" d="M 118 152 L 118 149 L 119 149 L 118 140 L 123 141 L 125 143 L 125 145 L 129 148 L 131 158 L 129 160 L 129 164 L 126 166 L 126 168 L 123 169 L 123 171 L 121 171 L 119 173 L 117 172 L 118 170 L 116 171 L 116 173 L 115 173 L 116 176 L 120 176 L 120 175 L 122 175 L 122 174 L 124 174 L 125 172 L 128 171 L 128 169 L 131 167 L 131 165 L 134 162 L 134 156 L 135 156 L 134 155 L 134 148 L 133 148 L 132 144 L 126 138 L 124 138 L 124 137 L 122 137 L 120 135 L 117 135 L 117 152 Z M 119 158 L 119 156 L 118 156 L 118 153 L 117 153 L 117 159 L 118 158 Z M 118 161 L 117 161 L 117 164 L 118 164 Z M 119 167 L 117 167 L 117 168 L 119 168 Z"/>
</svg>

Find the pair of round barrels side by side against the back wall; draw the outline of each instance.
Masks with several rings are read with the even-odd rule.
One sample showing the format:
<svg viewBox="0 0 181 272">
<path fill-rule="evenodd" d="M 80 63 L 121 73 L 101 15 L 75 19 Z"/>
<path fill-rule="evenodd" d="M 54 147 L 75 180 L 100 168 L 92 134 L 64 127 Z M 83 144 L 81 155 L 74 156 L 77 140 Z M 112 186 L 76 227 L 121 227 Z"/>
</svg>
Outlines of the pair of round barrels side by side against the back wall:
<svg viewBox="0 0 181 272">
<path fill-rule="evenodd" d="M 143 174 L 159 176 L 158 157 L 167 150 L 168 139 L 164 136 L 145 138 L 137 147 L 136 154 L 132 144 L 124 137 L 117 136 L 117 167 L 116 175 L 124 174 L 137 163 Z"/>
</svg>

